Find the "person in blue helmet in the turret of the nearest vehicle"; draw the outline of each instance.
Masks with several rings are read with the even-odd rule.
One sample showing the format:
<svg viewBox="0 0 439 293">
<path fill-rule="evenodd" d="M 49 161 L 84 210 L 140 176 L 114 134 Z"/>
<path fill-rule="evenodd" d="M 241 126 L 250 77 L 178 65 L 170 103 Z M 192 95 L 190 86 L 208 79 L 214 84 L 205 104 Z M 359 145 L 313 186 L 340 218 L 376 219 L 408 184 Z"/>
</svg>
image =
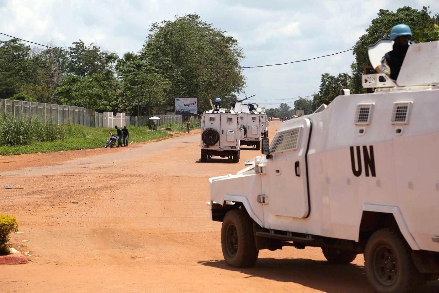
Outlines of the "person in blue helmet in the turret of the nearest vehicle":
<svg viewBox="0 0 439 293">
<path fill-rule="evenodd" d="M 392 28 L 390 40 L 395 41 L 393 50 L 387 52 L 381 59 L 381 66 L 375 69 L 378 73 L 388 74 L 392 80 L 398 78 L 399 70 L 401 70 L 407 50 L 412 43 L 410 41 L 411 36 L 411 29 L 408 25 L 395 25 Z"/>
</svg>

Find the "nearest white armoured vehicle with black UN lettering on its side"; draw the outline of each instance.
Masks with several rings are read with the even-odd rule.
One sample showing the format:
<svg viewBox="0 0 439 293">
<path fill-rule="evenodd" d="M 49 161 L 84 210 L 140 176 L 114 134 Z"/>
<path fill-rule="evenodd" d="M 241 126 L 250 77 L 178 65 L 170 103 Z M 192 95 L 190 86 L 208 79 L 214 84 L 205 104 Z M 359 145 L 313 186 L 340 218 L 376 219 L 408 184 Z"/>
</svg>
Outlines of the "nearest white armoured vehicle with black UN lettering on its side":
<svg viewBox="0 0 439 293">
<path fill-rule="evenodd" d="M 264 138 L 265 156 L 251 166 L 210 178 L 227 264 L 252 266 L 261 249 L 317 246 L 331 263 L 364 253 L 377 292 L 437 279 L 438 56 L 439 41 L 412 44 L 396 81 L 363 76 L 374 93 L 343 90 L 284 122 L 270 146 Z"/>
</svg>

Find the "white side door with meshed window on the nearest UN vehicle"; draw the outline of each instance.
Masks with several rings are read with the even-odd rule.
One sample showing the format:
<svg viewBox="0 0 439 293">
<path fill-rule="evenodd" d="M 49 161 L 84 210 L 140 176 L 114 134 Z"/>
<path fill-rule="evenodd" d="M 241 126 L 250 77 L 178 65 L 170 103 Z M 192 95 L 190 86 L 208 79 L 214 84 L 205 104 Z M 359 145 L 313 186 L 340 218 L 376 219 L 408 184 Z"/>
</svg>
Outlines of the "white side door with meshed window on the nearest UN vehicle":
<svg viewBox="0 0 439 293">
<path fill-rule="evenodd" d="M 280 129 L 270 144 L 273 159 L 262 175 L 266 228 L 288 230 L 278 217 L 306 218 L 309 215 L 306 152 L 311 129 L 309 119 L 299 119 Z M 281 224 L 280 224 L 281 223 Z"/>
</svg>

